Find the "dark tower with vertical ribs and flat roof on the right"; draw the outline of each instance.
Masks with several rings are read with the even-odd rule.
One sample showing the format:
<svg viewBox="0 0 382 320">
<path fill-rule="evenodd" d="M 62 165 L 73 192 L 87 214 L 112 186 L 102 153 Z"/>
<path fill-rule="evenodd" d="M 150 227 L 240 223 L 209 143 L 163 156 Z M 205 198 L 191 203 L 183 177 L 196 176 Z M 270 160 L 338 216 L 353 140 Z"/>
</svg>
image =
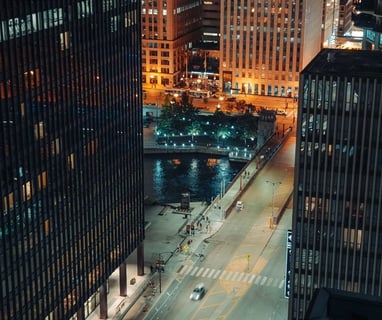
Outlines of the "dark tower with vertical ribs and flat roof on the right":
<svg viewBox="0 0 382 320">
<path fill-rule="evenodd" d="M 289 319 L 320 288 L 382 294 L 382 55 L 322 50 L 301 72 Z"/>
</svg>

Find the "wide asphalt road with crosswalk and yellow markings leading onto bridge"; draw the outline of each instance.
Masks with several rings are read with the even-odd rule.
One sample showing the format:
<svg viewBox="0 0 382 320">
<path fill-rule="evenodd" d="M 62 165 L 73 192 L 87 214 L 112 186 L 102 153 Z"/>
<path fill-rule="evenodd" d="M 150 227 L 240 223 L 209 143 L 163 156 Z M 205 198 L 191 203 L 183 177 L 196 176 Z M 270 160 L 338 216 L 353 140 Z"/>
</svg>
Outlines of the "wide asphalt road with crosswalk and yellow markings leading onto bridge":
<svg viewBox="0 0 382 320">
<path fill-rule="evenodd" d="M 295 138 L 290 137 L 242 193 L 244 210 L 231 213 L 200 245 L 197 251 L 205 258 L 187 260 L 162 294 L 161 304 L 155 305 L 155 317 L 145 319 L 287 319 L 284 272 L 291 204 L 277 226 L 271 227 L 270 218 L 293 188 L 294 151 Z M 273 190 L 267 181 L 281 183 Z M 189 295 L 200 282 L 207 294 L 191 301 Z"/>
</svg>

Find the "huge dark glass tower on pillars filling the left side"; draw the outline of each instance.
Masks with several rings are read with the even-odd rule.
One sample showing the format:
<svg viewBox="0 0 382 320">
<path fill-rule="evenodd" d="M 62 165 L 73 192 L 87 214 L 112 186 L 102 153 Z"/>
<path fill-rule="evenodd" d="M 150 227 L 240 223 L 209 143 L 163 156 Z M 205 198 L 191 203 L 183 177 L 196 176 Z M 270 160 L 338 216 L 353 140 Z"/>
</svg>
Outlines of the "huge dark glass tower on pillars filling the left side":
<svg viewBox="0 0 382 320">
<path fill-rule="evenodd" d="M 140 3 L 1 2 L 2 320 L 106 318 L 143 274 Z"/>
</svg>

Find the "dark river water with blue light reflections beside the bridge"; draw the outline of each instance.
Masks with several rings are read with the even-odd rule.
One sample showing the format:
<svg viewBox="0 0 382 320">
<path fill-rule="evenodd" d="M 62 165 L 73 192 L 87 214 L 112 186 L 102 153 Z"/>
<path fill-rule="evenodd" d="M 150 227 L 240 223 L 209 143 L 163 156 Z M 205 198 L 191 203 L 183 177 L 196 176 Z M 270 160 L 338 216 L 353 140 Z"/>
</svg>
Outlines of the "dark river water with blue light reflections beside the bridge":
<svg viewBox="0 0 382 320">
<path fill-rule="evenodd" d="M 145 155 L 145 195 L 162 203 L 208 201 L 228 188 L 243 163 L 201 154 Z"/>
</svg>

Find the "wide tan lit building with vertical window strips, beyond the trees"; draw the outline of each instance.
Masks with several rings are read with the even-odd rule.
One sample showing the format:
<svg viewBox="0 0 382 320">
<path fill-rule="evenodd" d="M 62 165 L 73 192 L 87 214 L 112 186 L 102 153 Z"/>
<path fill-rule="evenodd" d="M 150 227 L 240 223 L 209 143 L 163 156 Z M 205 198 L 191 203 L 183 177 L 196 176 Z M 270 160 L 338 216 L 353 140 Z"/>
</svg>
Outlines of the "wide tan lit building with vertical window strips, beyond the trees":
<svg viewBox="0 0 382 320">
<path fill-rule="evenodd" d="M 322 0 L 222 1 L 222 90 L 297 94 L 299 72 L 321 49 L 322 8 Z"/>
</svg>

